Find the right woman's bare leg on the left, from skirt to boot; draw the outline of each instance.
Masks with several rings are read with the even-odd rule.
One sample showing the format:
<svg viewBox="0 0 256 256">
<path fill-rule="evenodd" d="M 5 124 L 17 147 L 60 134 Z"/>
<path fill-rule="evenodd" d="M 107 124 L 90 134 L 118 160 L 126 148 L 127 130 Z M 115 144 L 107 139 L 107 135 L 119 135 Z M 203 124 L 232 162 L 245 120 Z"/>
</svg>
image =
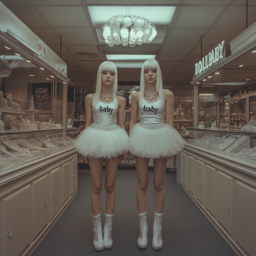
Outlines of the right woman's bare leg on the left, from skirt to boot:
<svg viewBox="0 0 256 256">
<path fill-rule="evenodd" d="M 138 213 L 146 211 L 147 207 L 147 188 L 148 188 L 148 158 L 136 156 L 136 169 L 137 169 L 137 208 Z"/>
</svg>

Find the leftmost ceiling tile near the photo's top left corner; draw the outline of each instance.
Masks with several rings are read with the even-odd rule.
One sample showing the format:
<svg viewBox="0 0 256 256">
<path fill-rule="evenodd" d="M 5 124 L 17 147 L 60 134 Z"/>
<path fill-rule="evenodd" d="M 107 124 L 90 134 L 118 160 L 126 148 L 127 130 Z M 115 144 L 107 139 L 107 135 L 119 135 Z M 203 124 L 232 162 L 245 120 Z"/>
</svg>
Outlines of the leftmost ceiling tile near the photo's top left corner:
<svg viewBox="0 0 256 256">
<path fill-rule="evenodd" d="M 8 6 L 8 9 L 29 28 L 49 27 L 49 24 L 35 6 Z"/>
</svg>

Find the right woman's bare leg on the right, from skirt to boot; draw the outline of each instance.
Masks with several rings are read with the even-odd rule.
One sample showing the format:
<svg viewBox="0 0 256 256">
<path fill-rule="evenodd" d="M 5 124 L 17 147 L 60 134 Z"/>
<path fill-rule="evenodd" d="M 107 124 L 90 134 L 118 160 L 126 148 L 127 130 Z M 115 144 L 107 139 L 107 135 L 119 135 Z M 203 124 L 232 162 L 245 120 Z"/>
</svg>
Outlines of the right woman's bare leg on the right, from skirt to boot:
<svg viewBox="0 0 256 256">
<path fill-rule="evenodd" d="M 165 191 L 164 191 L 164 175 L 166 170 L 167 159 L 154 159 L 154 178 L 153 186 L 155 189 L 155 209 L 157 213 L 163 213 Z"/>
</svg>

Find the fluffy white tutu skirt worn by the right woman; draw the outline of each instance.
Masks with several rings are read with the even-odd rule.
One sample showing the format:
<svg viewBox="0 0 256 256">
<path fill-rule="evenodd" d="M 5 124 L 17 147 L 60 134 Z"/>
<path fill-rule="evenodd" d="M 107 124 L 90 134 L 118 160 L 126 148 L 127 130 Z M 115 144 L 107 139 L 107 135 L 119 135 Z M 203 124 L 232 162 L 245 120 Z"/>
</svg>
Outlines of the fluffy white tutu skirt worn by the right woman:
<svg viewBox="0 0 256 256">
<path fill-rule="evenodd" d="M 129 151 L 134 156 L 160 158 L 174 156 L 181 152 L 186 141 L 171 125 L 159 129 L 146 129 L 134 125 L 130 132 Z"/>
</svg>

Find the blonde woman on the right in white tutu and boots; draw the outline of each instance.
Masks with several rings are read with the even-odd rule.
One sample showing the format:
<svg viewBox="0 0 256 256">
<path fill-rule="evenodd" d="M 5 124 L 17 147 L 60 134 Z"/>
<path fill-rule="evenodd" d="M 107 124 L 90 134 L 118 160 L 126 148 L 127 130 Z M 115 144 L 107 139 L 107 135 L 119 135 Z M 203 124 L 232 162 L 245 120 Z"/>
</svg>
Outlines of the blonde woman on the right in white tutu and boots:
<svg viewBox="0 0 256 256">
<path fill-rule="evenodd" d="M 164 209 L 164 173 L 167 161 L 178 154 L 186 141 L 173 128 L 173 93 L 163 90 L 161 69 L 156 60 L 147 60 L 141 68 L 140 92 L 131 96 L 129 124 L 129 150 L 136 157 L 138 178 L 137 208 L 140 219 L 139 248 L 147 248 L 147 187 L 148 161 L 154 160 L 153 186 L 155 189 L 155 214 L 152 248 L 163 247 L 161 221 Z M 137 123 L 137 116 L 140 123 Z M 166 122 L 164 122 L 166 116 Z"/>
</svg>

